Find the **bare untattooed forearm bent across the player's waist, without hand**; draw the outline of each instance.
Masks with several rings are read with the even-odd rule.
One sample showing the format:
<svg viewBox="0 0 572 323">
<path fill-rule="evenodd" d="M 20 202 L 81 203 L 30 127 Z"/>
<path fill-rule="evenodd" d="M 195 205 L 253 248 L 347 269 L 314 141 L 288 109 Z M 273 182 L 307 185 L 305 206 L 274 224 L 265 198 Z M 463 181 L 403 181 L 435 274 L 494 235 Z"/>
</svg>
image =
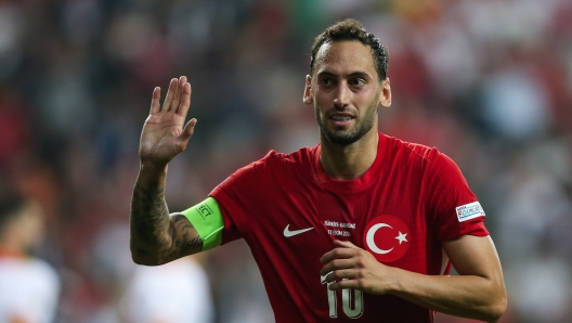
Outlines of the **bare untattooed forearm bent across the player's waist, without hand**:
<svg viewBox="0 0 572 323">
<path fill-rule="evenodd" d="M 506 308 L 502 283 L 477 275 L 422 275 L 401 269 L 389 294 L 451 315 L 496 322 Z"/>
</svg>

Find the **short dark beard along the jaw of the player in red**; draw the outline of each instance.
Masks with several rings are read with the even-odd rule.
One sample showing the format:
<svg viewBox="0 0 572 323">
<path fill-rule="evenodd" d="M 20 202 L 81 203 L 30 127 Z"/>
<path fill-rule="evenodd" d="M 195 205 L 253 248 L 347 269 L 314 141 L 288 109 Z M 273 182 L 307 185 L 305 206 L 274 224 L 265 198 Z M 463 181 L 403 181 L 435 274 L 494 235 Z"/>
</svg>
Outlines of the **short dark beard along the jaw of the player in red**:
<svg viewBox="0 0 572 323">
<path fill-rule="evenodd" d="M 374 102 L 367 108 L 364 117 L 362 119 L 355 119 L 355 125 L 349 131 L 336 131 L 334 129 L 328 129 L 324 122 L 322 114 L 317 108 L 317 104 L 314 103 L 314 114 L 320 127 L 322 134 L 332 143 L 346 146 L 350 145 L 358 140 L 362 139 L 372 128 L 374 127 L 375 118 L 377 117 L 377 105 L 379 101 L 379 95 L 376 95 Z M 314 101 L 315 102 L 315 101 Z"/>
</svg>

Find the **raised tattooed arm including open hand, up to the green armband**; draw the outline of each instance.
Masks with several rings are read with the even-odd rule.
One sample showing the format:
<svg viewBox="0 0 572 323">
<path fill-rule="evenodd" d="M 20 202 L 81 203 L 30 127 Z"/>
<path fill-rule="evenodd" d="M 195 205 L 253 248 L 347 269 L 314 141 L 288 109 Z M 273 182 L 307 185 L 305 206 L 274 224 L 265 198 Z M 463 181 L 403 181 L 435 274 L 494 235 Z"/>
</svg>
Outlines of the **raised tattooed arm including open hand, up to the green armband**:
<svg viewBox="0 0 572 323">
<path fill-rule="evenodd" d="M 165 202 L 167 164 L 185 150 L 196 119 L 184 124 L 191 106 L 186 77 L 171 79 L 162 106 L 160 88 L 153 90 L 151 111 L 139 144 L 141 168 L 130 211 L 130 248 L 133 261 L 161 264 L 203 249 L 203 241 L 181 214 L 169 215 Z M 159 165 L 159 166 L 157 166 Z"/>
</svg>

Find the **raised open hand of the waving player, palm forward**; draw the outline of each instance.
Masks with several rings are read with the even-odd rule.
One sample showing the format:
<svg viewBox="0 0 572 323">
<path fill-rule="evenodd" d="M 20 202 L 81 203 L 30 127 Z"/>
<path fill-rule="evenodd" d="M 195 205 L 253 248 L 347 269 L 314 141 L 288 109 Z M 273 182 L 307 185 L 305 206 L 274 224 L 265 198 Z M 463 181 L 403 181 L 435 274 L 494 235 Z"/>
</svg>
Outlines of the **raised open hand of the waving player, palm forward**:
<svg viewBox="0 0 572 323">
<path fill-rule="evenodd" d="M 193 135 L 196 119 L 184 120 L 191 106 L 191 83 L 185 76 L 171 79 L 167 96 L 159 103 L 160 88 L 153 90 L 150 116 L 141 131 L 139 156 L 143 165 L 165 167 L 183 152 Z"/>
</svg>

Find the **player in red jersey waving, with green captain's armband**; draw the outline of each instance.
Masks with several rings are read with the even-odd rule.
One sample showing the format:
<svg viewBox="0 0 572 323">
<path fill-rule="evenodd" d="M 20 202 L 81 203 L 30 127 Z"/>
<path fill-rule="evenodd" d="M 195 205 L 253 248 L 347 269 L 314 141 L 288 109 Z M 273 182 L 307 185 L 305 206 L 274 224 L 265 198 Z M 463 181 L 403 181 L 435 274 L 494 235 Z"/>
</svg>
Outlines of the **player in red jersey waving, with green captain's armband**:
<svg viewBox="0 0 572 323">
<path fill-rule="evenodd" d="M 169 216 L 167 164 L 193 135 L 185 77 L 162 107 L 155 88 L 141 134 L 131 253 L 160 264 L 243 237 L 276 322 L 432 322 L 434 311 L 495 322 L 506 292 L 484 212 L 435 148 L 377 131 L 391 104 L 387 51 L 353 20 L 316 37 L 303 102 L 320 144 L 232 175 Z M 459 275 L 448 272 L 448 259 Z"/>
</svg>

